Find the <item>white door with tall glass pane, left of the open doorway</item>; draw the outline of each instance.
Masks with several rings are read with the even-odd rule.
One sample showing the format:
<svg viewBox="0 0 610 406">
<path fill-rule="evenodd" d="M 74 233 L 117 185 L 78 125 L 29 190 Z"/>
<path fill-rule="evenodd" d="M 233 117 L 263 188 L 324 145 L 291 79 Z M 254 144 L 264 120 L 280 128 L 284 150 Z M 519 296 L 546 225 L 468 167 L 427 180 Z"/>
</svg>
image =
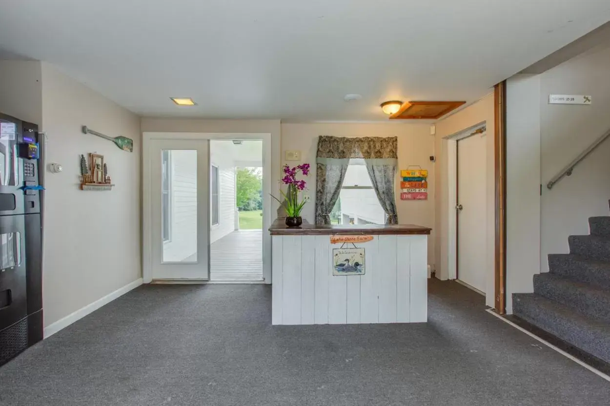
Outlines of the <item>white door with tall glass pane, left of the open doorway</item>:
<svg viewBox="0 0 610 406">
<path fill-rule="evenodd" d="M 209 141 L 151 140 L 152 279 L 209 280 Z"/>
</svg>

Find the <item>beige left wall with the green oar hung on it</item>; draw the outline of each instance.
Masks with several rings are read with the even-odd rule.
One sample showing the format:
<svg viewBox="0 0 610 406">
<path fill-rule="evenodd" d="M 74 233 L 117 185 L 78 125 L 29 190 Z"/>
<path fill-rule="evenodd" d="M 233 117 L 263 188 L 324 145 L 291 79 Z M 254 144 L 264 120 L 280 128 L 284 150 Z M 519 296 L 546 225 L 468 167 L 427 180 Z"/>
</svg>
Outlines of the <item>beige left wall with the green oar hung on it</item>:
<svg viewBox="0 0 610 406">
<path fill-rule="evenodd" d="M 140 119 L 95 91 L 41 64 L 42 130 L 47 162 L 43 252 L 45 326 L 142 277 Z M 134 140 L 134 152 L 81 132 Z M 104 155 L 115 187 L 81 191 L 79 156 Z"/>
</svg>

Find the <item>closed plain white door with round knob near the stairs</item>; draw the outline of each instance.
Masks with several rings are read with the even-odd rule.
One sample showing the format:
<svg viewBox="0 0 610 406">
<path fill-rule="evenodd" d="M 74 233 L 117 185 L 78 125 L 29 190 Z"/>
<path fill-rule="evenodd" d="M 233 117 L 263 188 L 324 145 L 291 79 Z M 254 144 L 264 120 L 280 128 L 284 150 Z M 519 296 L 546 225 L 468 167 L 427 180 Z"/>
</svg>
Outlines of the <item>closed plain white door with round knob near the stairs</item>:
<svg viewBox="0 0 610 406">
<path fill-rule="evenodd" d="M 458 279 L 486 290 L 485 137 L 458 141 Z"/>
</svg>

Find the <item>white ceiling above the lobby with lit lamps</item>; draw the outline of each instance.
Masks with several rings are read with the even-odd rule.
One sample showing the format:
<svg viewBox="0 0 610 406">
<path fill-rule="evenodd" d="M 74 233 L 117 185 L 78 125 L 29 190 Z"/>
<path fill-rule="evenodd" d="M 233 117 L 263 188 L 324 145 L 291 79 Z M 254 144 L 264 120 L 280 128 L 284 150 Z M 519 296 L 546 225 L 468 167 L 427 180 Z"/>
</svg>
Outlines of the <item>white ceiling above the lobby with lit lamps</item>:
<svg viewBox="0 0 610 406">
<path fill-rule="evenodd" d="M 476 101 L 608 20 L 608 0 L 5 0 L 0 48 L 146 116 L 375 121 Z"/>
</svg>

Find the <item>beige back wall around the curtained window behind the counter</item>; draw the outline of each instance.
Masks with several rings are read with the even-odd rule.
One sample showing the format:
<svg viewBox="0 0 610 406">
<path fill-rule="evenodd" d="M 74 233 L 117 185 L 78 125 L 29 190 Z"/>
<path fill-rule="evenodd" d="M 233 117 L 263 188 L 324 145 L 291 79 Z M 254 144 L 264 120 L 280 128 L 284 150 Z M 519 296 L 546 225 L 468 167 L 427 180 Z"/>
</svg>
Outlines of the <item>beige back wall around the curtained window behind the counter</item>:
<svg viewBox="0 0 610 406">
<path fill-rule="evenodd" d="M 401 201 L 399 176 L 397 174 L 397 210 L 401 224 L 419 224 L 432 227 L 428 239 L 428 263 L 434 264 L 434 174 L 435 163 L 429 161 L 434 155 L 434 137 L 430 135 L 430 125 L 422 123 L 328 123 L 328 124 L 282 124 L 281 164 L 295 166 L 310 163 L 315 166 L 315 155 L 319 135 L 334 137 L 398 137 L 398 167 L 420 165 L 428 169 L 429 198 L 427 201 Z M 285 161 L 284 151 L 301 151 L 301 161 Z M 315 212 L 315 170 L 307 177 L 308 193 L 311 201 L 303 208 L 303 217 L 314 222 Z M 274 191 L 274 193 L 278 193 Z"/>
</svg>

